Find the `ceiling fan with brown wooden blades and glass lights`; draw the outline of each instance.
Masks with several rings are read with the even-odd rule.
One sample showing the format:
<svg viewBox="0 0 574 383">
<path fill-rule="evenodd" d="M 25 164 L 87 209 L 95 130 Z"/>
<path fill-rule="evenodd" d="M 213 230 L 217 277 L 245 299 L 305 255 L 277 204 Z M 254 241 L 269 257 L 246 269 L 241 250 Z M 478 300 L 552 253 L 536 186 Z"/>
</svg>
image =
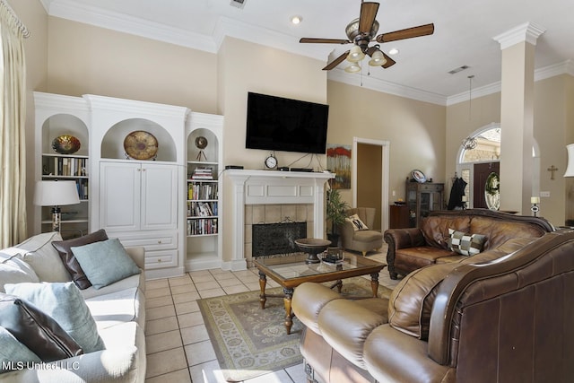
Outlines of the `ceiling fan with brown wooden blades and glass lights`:
<svg viewBox="0 0 574 383">
<path fill-rule="evenodd" d="M 431 35 L 434 32 L 434 24 L 425 24 L 418 27 L 407 28 L 404 30 L 396 30 L 394 32 L 381 33 L 377 36 L 378 22 L 375 20 L 378 12 L 378 3 L 374 2 L 361 2 L 361 14 L 358 19 L 350 22 L 345 28 L 345 33 L 348 39 L 314 39 L 302 38 L 300 43 L 320 43 L 320 44 L 350 44 L 354 46 L 344 52 L 343 55 L 335 58 L 332 62 L 323 68 L 324 71 L 329 71 L 335 68 L 336 65 L 341 64 L 346 58 L 354 65 L 349 66 L 345 70 L 347 72 L 358 72 L 361 66 L 357 63 L 368 55 L 370 57 L 369 65 L 382 66 L 388 68 L 395 65 L 396 62 L 387 54 L 382 52 L 378 44 L 369 46 L 371 41 L 378 43 L 396 41 L 399 39 L 412 39 L 420 36 Z"/>
</svg>

